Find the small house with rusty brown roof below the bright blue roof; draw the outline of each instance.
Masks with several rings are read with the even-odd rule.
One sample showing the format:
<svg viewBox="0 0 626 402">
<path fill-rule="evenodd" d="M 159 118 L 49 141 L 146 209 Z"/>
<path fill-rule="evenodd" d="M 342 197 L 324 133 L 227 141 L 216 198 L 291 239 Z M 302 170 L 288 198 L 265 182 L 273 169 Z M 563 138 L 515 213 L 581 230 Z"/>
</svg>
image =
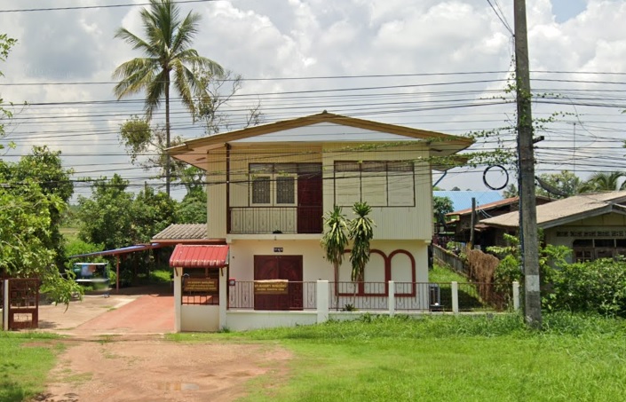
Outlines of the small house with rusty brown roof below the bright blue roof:
<svg viewBox="0 0 626 402">
<path fill-rule="evenodd" d="M 543 205 L 551 199 L 541 195 L 536 196 L 536 205 Z M 471 203 L 470 203 L 471 205 Z M 474 217 L 474 244 L 491 246 L 495 240 L 490 238 L 490 232 L 485 231 L 485 225 L 481 222 L 489 217 L 498 217 L 509 212 L 519 210 L 519 197 L 506 198 L 504 200 L 488 203 L 476 204 L 476 216 Z M 471 236 L 471 206 L 466 209 L 456 210 L 446 214 L 446 220 L 451 227 L 454 227 L 454 240 L 461 242 L 470 241 Z"/>
</svg>

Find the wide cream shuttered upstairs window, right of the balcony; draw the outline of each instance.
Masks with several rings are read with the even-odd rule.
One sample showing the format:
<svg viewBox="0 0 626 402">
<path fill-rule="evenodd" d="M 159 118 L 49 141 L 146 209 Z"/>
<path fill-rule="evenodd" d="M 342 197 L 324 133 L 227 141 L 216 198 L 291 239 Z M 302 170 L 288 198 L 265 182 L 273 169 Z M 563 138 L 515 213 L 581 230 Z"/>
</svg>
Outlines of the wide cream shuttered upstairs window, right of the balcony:
<svg viewBox="0 0 626 402">
<path fill-rule="evenodd" d="M 415 207 L 415 175 L 411 161 L 335 162 L 335 202 L 351 206 Z"/>
</svg>

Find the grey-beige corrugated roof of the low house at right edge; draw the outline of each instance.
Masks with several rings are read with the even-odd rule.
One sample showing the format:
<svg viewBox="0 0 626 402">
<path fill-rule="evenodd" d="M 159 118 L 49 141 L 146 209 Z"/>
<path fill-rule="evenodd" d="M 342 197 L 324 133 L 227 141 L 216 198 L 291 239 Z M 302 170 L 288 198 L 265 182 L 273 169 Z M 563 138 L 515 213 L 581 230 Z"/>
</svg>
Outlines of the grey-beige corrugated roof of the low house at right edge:
<svg viewBox="0 0 626 402">
<path fill-rule="evenodd" d="M 626 201 L 626 191 L 581 194 L 537 206 L 537 225 L 546 229 L 568 222 L 593 217 L 613 210 L 614 204 Z M 509 212 L 498 217 L 482 219 L 481 224 L 502 227 L 518 227 L 519 212 Z"/>
</svg>

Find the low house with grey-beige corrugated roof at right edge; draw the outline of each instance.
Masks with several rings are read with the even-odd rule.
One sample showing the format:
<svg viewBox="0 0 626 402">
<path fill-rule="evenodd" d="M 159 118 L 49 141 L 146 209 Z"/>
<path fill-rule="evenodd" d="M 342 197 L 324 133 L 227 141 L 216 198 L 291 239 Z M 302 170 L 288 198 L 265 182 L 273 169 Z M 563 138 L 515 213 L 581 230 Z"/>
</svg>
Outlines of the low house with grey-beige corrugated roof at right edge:
<svg viewBox="0 0 626 402">
<path fill-rule="evenodd" d="M 567 246 L 570 262 L 626 256 L 626 191 L 575 195 L 537 206 L 537 226 L 546 244 Z M 495 244 L 503 233 L 517 233 L 519 213 L 480 221 L 493 233 Z"/>
</svg>

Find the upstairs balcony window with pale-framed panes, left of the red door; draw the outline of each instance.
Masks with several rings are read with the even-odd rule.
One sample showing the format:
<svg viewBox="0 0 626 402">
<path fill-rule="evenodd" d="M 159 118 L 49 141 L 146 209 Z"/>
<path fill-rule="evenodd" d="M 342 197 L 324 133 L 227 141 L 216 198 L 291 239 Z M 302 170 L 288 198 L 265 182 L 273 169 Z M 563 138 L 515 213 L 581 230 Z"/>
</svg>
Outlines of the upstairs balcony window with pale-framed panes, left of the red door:
<svg viewBox="0 0 626 402">
<path fill-rule="evenodd" d="M 251 163 L 250 203 L 265 206 L 296 205 L 295 163 Z"/>
</svg>

